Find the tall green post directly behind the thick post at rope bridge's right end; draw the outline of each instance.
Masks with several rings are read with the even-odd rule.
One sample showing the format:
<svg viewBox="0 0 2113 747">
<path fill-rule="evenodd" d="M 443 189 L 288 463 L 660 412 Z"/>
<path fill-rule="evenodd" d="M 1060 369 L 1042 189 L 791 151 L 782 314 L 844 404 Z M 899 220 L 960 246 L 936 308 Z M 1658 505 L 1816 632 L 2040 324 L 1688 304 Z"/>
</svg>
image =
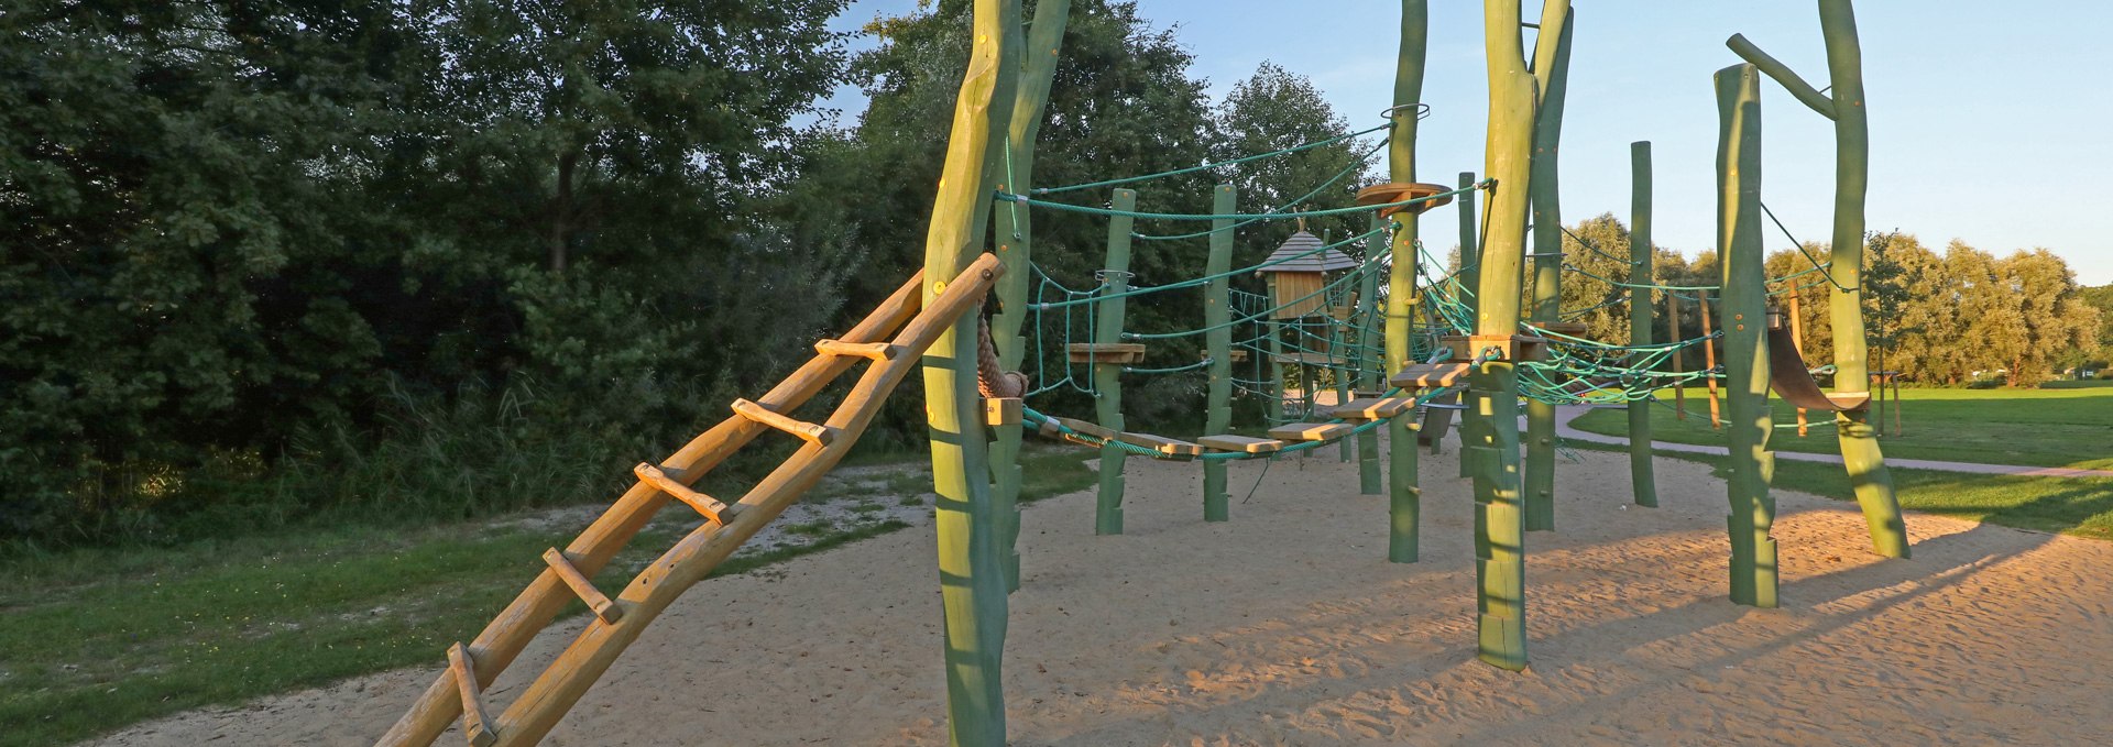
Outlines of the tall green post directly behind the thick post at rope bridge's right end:
<svg viewBox="0 0 2113 747">
<path fill-rule="evenodd" d="M 1576 13 L 1562 15 L 1562 32 L 1542 25 L 1534 44 L 1534 78 L 1540 108 L 1534 112 L 1534 323 L 1562 321 L 1564 306 L 1564 215 L 1555 188 L 1557 152 L 1564 137 L 1564 91 L 1570 89 L 1570 27 Z M 1555 403 L 1526 403 L 1526 530 L 1555 530 Z"/>
</svg>

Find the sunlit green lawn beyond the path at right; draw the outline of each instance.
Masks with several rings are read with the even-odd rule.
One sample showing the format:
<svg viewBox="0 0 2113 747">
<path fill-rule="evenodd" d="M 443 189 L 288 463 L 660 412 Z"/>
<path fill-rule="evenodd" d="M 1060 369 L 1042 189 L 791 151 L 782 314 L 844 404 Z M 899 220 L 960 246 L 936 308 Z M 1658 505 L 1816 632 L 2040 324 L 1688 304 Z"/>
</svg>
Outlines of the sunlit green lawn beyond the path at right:
<svg viewBox="0 0 2113 747">
<path fill-rule="evenodd" d="M 1885 456 L 1914 460 L 2081 466 L 2113 468 L 2113 382 L 2056 382 L 2045 388 L 1904 388 L 1902 435 L 1883 437 Z M 2098 386 L 2094 386 L 2098 384 Z M 1661 395 L 1671 403 L 1671 395 Z M 1891 405 L 1889 405 L 1891 407 Z M 1893 414 L 1887 411 L 1891 428 Z M 1834 418 L 1811 414 L 1811 435 L 1798 437 L 1796 409 L 1775 401 L 1775 435 L 1769 447 L 1777 452 L 1838 454 Z M 1627 435 L 1629 416 L 1621 409 L 1591 411 L 1576 422 L 1578 430 Z M 1724 443 L 1709 428 L 1709 395 L 1688 388 L 1688 418 L 1676 420 L 1671 407 L 1650 409 L 1657 441 Z"/>
</svg>

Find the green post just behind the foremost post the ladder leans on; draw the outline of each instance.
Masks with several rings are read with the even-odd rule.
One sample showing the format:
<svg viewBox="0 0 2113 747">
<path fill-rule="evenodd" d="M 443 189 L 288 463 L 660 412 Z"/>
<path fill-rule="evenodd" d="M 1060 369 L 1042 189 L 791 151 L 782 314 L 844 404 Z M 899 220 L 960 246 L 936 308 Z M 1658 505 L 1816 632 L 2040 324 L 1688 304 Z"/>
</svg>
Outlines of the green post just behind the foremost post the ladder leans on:
<svg viewBox="0 0 2113 747">
<path fill-rule="evenodd" d="M 1012 95 L 1012 116 L 1008 118 L 1006 150 L 1010 169 L 997 171 L 997 188 L 1027 194 L 1035 179 L 1035 139 L 1042 137 L 1042 110 L 1050 99 L 1050 82 L 1056 78 L 1056 51 L 1063 46 L 1065 21 L 1071 15 L 1071 0 L 1042 0 L 1035 4 L 1033 32 L 1027 34 L 1027 49 L 1021 51 L 1021 82 Z M 1002 165 L 1002 167 L 1006 167 Z M 1010 173 L 1010 175 L 1008 175 Z M 997 276 L 997 314 L 991 317 L 991 342 L 997 346 L 997 361 L 1006 371 L 1018 371 L 1027 357 L 1027 342 L 1021 325 L 1027 321 L 1029 262 L 1033 257 L 1031 211 L 1021 205 L 1006 205 L 997 217 L 997 260 L 1006 274 Z M 999 536 L 997 555 L 1006 566 L 1006 589 L 1021 589 L 1021 424 L 1004 422 L 995 426 L 991 441 L 993 513 Z"/>
</svg>

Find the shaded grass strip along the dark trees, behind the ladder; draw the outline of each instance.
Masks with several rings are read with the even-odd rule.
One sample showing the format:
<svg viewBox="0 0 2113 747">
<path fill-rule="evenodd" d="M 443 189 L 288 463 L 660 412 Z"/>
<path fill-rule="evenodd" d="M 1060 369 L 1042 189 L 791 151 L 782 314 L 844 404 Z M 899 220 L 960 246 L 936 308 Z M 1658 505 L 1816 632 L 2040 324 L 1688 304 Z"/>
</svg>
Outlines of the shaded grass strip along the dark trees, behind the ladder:
<svg viewBox="0 0 2113 747">
<path fill-rule="evenodd" d="M 1092 485 L 1084 454 L 1029 449 L 1023 500 Z M 930 477 L 904 483 L 930 490 Z M 63 745 L 201 705 L 437 667 L 543 570 L 543 549 L 583 528 L 518 519 L 0 557 L 0 745 Z M 655 521 L 611 568 L 651 561 L 691 525 Z M 898 528 L 816 528 L 816 544 L 718 574 Z"/>
</svg>

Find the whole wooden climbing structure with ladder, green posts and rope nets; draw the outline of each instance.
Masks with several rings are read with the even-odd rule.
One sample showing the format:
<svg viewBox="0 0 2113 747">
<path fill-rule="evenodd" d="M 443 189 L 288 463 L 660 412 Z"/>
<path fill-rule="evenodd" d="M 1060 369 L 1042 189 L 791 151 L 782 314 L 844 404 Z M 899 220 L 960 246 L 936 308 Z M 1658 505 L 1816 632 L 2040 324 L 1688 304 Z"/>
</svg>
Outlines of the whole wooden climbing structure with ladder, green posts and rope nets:
<svg viewBox="0 0 2113 747">
<path fill-rule="evenodd" d="M 566 549 L 543 555 L 547 570 L 469 644 L 448 650 L 448 669 L 416 698 L 380 745 L 429 745 L 461 717 L 473 745 L 532 745 L 579 701 L 640 631 L 742 542 L 775 519 L 856 443 L 879 403 L 911 367 L 921 367 L 932 430 L 932 475 L 938 494 L 936 534 L 945 608 L 945 671 L 949 736 L 957 745 L 1006 743 L 1002 652 L 1006 595 L 1021 585 L 1014 551 L 1018 525 L 1018 454 L 1035 433 L 1099 449 L 1097 534 L 1122 532 L 1124 460 L 1133 456 L 1202 464 L 1204 521 L 1230 521 L 1226 462 L 1276 458 L 1331 443 L 1361 464 L 1361 490 L 1388 496 L 1388 561 L 1418 561 L 1418 437 L 1437 435 L 1460 411 L 1460 464 L 1473 479 L 1477 547 L 1479 656 L 1502 669 L 1523 669 L 1526 532 L 1555 528 L 1553 407 L 1559 403 L 1623 403 L 1629 407 L 1633 500 L 1654 506 L 1648 407 L 1654 392 L 1688 382 L 1722 384 L 1731 441 L 1726 530 L 1731 536 L 1731 599 L 1775 606 L 1775 504 L 1769 496 L 1773 458 L 1771 388 L 1807 409 L 1834 411 L 1840 445 L 1876 553 L 1906 557 L 1906 532 L 1872 428 L 1866 424 L 1868 371 L 1857 304 L 1862 205 L 1866 188 L 1866 112 L 1859 51 L 1849 0 L 1819 0 L 1828 42 L 1832 97 L 1813 91 L 1781 63 L 1735 36 L 1731 49 L 1747 63 L 1716 74 L 1720 112 L 1718 226 L 1722 276 L 1709 287 L 1669 287 L 1650 274 L 1650 146 L 1631 146 L 1633 215 L 1629 279 L 1597 279 L 1629 302 L 1631 340 L 1587 340 L 1562 308 L 1564 228 L 1557 205 L 1555 152 L 1564 112 L 1574 13 L 1549 0 L 1538 23 L 1523 23 L 1517 0 L 1485 4 L 1490 74 L 1490 139 L 1483 173 L 1462 173 L 1458 186 L 1416 181 L 1416 127 L 1431 112 L 1422 99 L 1428 36 L 1424 0 L 1403 0 L 1401 65 L 1388 125 L 1333 137 L 1348 141 L 1384 131 L 1388 181 L 1359 192 L 1357 207 L 1293 211 L 1335 188 L 1259 213 L 1240 213 L 1232 186 L 1213 190 L 1204 215 L 1145 213 L 1137 184 L 1160 175 L 1122 177 L 1069 188 L 1031 188 L 1033 141 L 1048 99 L 1069 2 L 1035 6 L 1031 38 L 1023 38 L 1016 0 L 974 2 L 974 44 L 957 99 L 947 160 L 934 205 L 923 270 L 839 340 L 816 344 L 816 359 L 756 401 L 735 401 L 733 416 L 661 462 L 638 464 L 634 483 Z M 1536 30 L 1532 61 L 1523 32 Z M 1836 122 L 1838 184 L 1830 262 L 1785 279 L 1762 268 L 1760 205 L 1760 76 Z M 1314 148 L 1308 143 L 1236 162 Z M 1373 150 L 1378 152 L 1378 148 Z M 1200 165 L 1175 173 L 1221 169 Z M 1052 198 L 1109 188 L 1107 207 Z M 1483 213 L 1475 215 L 1475 194 Z M 1418 241 L 1420 215 L 1458 203 L 1460 266 L 1443 272 Z M 1067 287 L 1033 264 L 1035 211 L 1107 219 L 1103 268 L 1088 287 Z M 1371 215 L 1371 228 L 1344 241 L 1295 234 L 1257 266 L 1232 268 L 1234 232 L 1302 215 Z M 1139 219 L 1204 222 L 1209 230 L 1145 236 Z M 995 224 L 985 253 L 987 226 Z M 1532 226 L 1532 251 L 1528 251 Z M 1133 285 L 1130 253 L 1139 238 L 1204 238 L 1204 274 L 1164 285 Z M 1583 241 L 1581 241 L 1583 243 Z M 1600 251 L 1583 243 L 1587 251 Z M 1346 251 L 1348 249 L 1348 251 Z M 1352 253 L 1359 253 L 1352 257 Z M 1532 285 L 1526 283 L 1532 260 Z M 1834 392 L 1826 392 L 1796 348 L 1794 329 L 1769 308 L 1771 283 L 1807 272 L 1832 285 Z M 1232 279 L 1268 274 L 1268 293 L 1245 293 Z M 1384 283 L 1382 283 L 1384 274 Z M 1040 287 L 1035 279 L 1040 276 Z M 1175 289 L 1202 289 L 1202 327 L 1179 331 L 1126 329 L 1126 304 Z M 1530 295 L 1526 293 L 1530 291 Z M 1652 342 L 1650 293 L 1665 293 L 1673 340 Z M 1718 293 L 1712 306 L 1712 293 Z M 978 333 L 976 308 L 995 295 L 989 336 Z M 1530 308 L 1521 310 L 1521 302 Z M 1680 302 L 1703 310 L 1703 329 L 1682 338 Z M 1073 342 L 1073 312 L 1086 317 L 1090 340 Z M 1061 323 L 1050 317 L 1063 314 Z M 1063 348 L 1046 338 L 1061 329 Z M 1204 357 L 1149 367 L 1152 340 L 1202 338 Z M 1029 340 L 1035 344 L 1029 346 Z M 1722 346 L 1722 365 L 1716 348 Z M 1035 363 L 1029 367 L 1029 350 Z M 1705 365 L 1686 371 L 1688 348 Z M 1050 361 L 1059 363 L 1050 363 Z M 993 363 L 995 361 L 995 376 Z M 983 365 L 978 365 L 983 363 Z M 1251 378 L 1240 378 L 1245 363 Z M 866 365 L 843 403 L 820 420 L 794 411 L 830 380 Z M 1297 369 L 1299 397 L 1285 388 Z M 1209 376 L 1204 435 L 1175 439 L 1135 433 L 1124 424 L 1124 376 L 1202 369 Z M 1061 374 L 1056 374 L 1061 371 Z M 1084 374 L 1080 374 L 1084 371 Z M 1321 376 L 1335 403 L 1314 397 Z M 980 374 L 980 376 L 978 376 Z M 1384 382 L 1384 384 L 1382 384 Z M 1095 397 L 1095 418 L 1063 418 L 1025 399 L 1056 388 Z M 1266 437 L 1234 435 L 1236 388 L 1266 397 Z M 1712 411 L 1716 418 L 1716 395 Z M 1526 433 L 1519 416 L 1526 403 Z M 1388 433 L 1382 487 L 1380 430 Z M 691 485 L 752 439 L 780 430 L 799 452 L 735 502 Z M 615 597 L 594 576 L 663 506 L 682 502 L 704 523 L 653 561 Z M 526 648 L 573 599 L 587 604 L 587 629 L 501 713 L 482 688 Z"/>
</svg>

